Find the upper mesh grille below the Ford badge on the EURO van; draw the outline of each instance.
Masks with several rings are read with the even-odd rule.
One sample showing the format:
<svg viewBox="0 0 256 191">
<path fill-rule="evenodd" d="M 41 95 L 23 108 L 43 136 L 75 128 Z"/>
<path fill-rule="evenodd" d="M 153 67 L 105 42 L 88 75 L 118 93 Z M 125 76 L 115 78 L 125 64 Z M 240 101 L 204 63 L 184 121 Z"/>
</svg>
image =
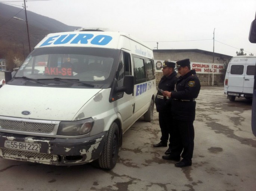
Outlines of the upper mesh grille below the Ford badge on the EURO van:
<svg viewBox="0 0 256 191">
<path fill-rule="evenodd" d="M 0 127 L 10 130 L 33 131 L 38 133 L 50 133 L 54 124 L 0 120 Z"/>
</svg>

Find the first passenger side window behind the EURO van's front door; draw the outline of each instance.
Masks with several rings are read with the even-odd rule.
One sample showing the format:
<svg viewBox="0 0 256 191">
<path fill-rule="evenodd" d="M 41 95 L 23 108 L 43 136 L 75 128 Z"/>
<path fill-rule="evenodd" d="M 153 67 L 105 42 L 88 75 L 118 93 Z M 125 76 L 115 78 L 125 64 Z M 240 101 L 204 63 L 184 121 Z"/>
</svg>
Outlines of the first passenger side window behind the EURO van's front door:
<svg viewBox="0 0 256 191">
<path fill-rule="evenodd" d="M 135 84 L 146 82 L 145 60 L 133 57 L 135 69 Z"/>
</svg>

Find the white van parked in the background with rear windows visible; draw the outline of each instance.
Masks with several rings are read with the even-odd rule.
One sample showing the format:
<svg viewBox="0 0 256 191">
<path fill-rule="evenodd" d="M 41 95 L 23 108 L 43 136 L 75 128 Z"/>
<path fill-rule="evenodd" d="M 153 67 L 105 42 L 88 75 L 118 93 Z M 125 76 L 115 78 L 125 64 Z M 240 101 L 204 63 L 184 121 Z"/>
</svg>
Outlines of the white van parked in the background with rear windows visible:
<svg viewBox="0 0 256 191">
<path fill-rule="evenodd" d="M 230 60 L 224 83 L 224 93 L 230 101 L 235 101 L 235 97 L 252 98 L 255 64 L 256 56 L 236 56 Z"/>
</svg>

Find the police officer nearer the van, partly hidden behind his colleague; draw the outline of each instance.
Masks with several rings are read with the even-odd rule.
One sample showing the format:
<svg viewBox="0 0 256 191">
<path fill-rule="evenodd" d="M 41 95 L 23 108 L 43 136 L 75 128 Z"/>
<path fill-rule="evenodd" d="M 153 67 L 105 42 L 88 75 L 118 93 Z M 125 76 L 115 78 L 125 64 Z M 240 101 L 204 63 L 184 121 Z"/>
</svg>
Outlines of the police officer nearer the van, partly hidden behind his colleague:
<svg viewBox="0 0 256 191">
<path fill-rule="evenodd" d="M 163 96 L 163 91 L 173 91 L 176 82 L 178 81 L 178 76 L 175 68 L 175 63 L 164 61 L 163 66 L 161 66 L 163 71 L 163 77 L 158 83 L 157 96 L 155 98 L 155 105 L 159 117 L 159 126 L 161 128 L 161 138 L 160 143 L 154 144 L 153 147 L 167 147 L 167 142 L 169 139 L 170 124 L 172 123 L 171 117 L 171 99 Z M 171 142 L 171 140 L 170 140 Z M 170 144 L 169 149 L 165 154 L 170 153 Z"/>
</svg>

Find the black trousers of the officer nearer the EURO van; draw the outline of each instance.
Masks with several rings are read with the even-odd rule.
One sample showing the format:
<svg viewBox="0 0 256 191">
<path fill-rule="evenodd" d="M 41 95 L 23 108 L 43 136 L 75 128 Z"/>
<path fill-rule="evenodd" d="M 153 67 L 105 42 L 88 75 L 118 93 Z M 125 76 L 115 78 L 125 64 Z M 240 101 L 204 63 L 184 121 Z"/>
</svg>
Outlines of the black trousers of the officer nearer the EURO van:
<svg viewBox="0 0 256 191">
<path fill-rule="evenodd" d="M 159 126 L 161 128 L 161 138 L 163 143 L 167 143 L 170 133 L 170 125 L 172 125 L 172 115 L 171 112 L 159 112 Z"/>
</svg>

